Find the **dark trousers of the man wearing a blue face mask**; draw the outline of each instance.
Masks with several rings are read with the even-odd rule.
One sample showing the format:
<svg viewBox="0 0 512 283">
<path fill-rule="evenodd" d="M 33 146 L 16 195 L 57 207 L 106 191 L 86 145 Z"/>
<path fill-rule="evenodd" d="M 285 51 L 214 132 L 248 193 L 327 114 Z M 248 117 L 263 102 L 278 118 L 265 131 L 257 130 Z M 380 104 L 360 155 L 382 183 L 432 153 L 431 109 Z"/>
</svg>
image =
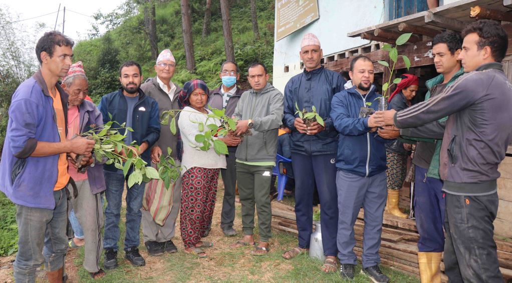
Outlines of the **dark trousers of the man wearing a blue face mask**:
<svg viewBox="0 0 512 283">
<path fill-rule="evenodd" d="M 232 227 L 234 221 L 234 188 L 237 184 L 237 158 L 234 153 L 226 155 L 226 169 L 221 169 L 224 183 L 224 199 L 222 200 L 221 228 Z"/>
</svg>

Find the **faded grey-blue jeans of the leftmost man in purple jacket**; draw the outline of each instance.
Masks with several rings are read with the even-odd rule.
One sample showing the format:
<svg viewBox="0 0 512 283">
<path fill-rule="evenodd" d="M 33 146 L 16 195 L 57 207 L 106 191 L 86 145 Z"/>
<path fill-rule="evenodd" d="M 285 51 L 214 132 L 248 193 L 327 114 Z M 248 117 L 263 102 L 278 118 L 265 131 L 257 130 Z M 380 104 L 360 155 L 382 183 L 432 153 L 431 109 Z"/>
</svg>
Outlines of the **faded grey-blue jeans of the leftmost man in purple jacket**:
<svg viewBox="0 0 512 283">
<path fill-rule="evenodd" d="M 66 189 L 53 191 L 53 198 L 53 210 L 16 205 L 19 236 L 13 264 L 16 282 L 35 282 L 35 271 L 43 262 L 46 271 L 64 266 L 68 251 Z"/>
</svg>

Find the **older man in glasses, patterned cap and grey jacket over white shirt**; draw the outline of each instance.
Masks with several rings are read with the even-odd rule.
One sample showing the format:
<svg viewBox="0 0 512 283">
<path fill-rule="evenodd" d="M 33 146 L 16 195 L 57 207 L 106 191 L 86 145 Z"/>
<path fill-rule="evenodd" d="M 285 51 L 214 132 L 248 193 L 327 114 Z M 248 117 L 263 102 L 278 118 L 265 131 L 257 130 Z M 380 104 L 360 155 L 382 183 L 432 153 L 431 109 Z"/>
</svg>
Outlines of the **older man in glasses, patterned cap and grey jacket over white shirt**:
<svg viewBox="0 0 512 283">
<path fill-rule="evenodd" d="M 162 116 L 162 112 L 164 111 L 181 109 L 179 99 L 177 99 L 181 88 L 171 81 L 175 70 L 176 60 L 174 59 L 173 53 L 165 49 L 158 55 L 155 64 L 157 76 L 147 80 L 140 86 L 140 89 L 147 96 L 154 98 L 158 102 L 158 113 L 160 116 Z M 162 126 L 160 129 L 160 138 L 151 148 L 151 161 L 154 164 L 160 162 L 160 157 L 162 154 L 164 157 L 167 156 L 167 147 L 170 147 L 172 150 L 171 157 L 179 162 L 177 144 L 178 135 L 173 135 L 168 126 Z M 165 153 L 162 152 L 162 148 L 165 150 Z M 153 191 L 153 194 L 158 194 L 160 190 L 165 190 L 165 188 L 159 187 L 156 191 Z M 152 195 L 148 194 L 149 192 L 146 190 L 144 192 L 144 199 L 142 200 L 143 203 L 146 203 L 148 198 L 153 199 Z M 155 222 L 153 215 L 149 211 L 144 210 L 144 208 L 141 209 L 144 245 L 146 246 L 147 253 L 150 255 L 158 256 L 165 252 L 175 253 L 178 251 L 178 248 L 176 248 L 176 245 L 174 245 L 171 239 L 174 237 L 174 227 L 180 210 L 181 177 L 178 177 L 174 185 L 172 201 L 172 208 L 163 226 Z"/>
</svg>

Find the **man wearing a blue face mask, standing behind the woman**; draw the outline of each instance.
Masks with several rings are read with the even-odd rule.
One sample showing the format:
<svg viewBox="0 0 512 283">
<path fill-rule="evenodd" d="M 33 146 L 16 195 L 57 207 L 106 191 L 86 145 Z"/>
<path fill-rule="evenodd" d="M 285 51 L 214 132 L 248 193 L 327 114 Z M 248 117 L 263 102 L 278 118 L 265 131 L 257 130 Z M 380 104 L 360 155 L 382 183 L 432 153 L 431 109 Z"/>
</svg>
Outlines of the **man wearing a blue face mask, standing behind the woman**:
<svg viewBox="0 0 512 283">
<path fill-rule="evenodd" d="M 208 105 L 212 108 L 226 110 L 226 116 L 231 117 L 238 101 L 244 91 L 237 87 L 240 79 L 240 69 L 233 61 L 224 61 L 221 65 L 219 77 L 222 85 L 210 91 Z M 226 155 L 227 168 L 221 169 L 222 182 L 224 183 L 224 200 L 222 202 L 221 229 L 226 236 L 234 236 L 237 231 L 233 229 L 234 221 L 234 188 L 237 183 L 237 162 L 234 153 L 241 139 L 235 136 L 226 136 L 223 141 L 228 146 L 229 155 Z"/>
</svg>

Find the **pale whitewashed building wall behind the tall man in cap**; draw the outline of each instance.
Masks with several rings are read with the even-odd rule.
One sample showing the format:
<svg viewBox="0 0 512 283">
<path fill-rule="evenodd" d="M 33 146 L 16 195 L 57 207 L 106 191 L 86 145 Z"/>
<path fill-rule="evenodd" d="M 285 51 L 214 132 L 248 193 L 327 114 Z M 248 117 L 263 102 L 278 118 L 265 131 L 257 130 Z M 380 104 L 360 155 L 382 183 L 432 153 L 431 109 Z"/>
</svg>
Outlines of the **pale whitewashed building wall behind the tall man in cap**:
<svg viewBox="0 0 512 283">
<path fill-rule="evenodd" d="M 318 0 L 318 20 L 274 42 L 272 83 L 275 88 L 283 92 L 288 80 L 303 71 L 298 53 L 304 34 L 312 32 L 318 37 L 324 56 L 365 45 L 368 40 L 351 38 L 347 33 L 382 23 L 383 8 L 383 0 Z"/>
</svg>

